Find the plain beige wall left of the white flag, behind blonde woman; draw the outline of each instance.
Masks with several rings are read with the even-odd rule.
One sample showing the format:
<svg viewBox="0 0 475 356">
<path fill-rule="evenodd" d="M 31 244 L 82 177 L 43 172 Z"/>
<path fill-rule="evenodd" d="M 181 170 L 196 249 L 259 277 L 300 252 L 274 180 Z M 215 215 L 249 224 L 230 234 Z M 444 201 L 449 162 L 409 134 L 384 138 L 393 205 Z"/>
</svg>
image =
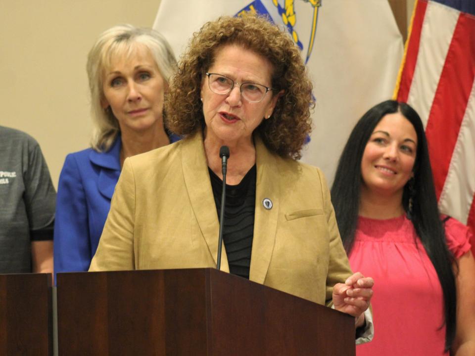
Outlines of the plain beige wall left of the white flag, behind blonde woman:
<svg viewBox="0 0 475 356">
<path fill-rule="evenodd" d="M 0 1 L 0 125 L 40 142 L 55 186 L 66 154 L 89 145 L 90 47 L 113 25 L 152 26 L 159 3 Z"/>
</svg>

